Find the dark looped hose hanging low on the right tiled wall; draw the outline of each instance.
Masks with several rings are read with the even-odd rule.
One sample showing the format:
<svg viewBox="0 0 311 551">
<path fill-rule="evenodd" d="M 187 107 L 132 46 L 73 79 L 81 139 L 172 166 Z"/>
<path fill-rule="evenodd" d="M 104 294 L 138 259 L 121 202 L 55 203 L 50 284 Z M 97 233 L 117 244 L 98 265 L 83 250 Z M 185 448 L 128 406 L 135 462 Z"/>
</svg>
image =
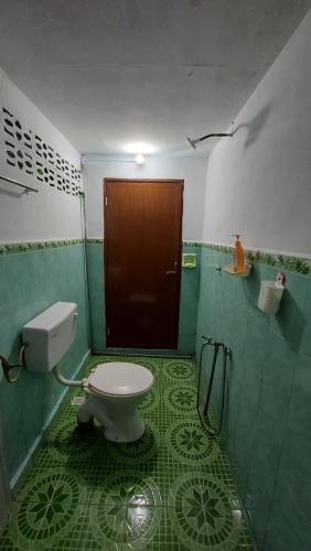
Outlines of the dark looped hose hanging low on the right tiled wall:
<svg viewBox="0 0 311 551">
<path fill-rule="evenodd" d="M 206 400 L 204 403 L 203 415 L 202 415 L 201 410 L 200 410 L 200 387 L 201 387 L 202 359 L 203 359 L 204 348 L 205 348 L 205 346 L 208 346 L 208 345 L 214 346 L 214 356 L 213 356 L 212 370 L 211 370 L 210 380 L 208 380 Z M 219 420 L 218 429 L 213 429 L 212 425 L 207 424 L 207 422 L 204 418 L 206 418 L 207 413 L 208 413 L 208 406 L 210 406 L 210 401 L 211 401 L 211 395 L 212 395 L 212 389 L 213 389 L 215 368 L 216 368 L 219 348 L 223 349 L 223 354 L 224 354 L 222 410 L 221 410 L 221 420 Z M 226 393 L 227 356 L 229 356 L 229 354 L 230 354 L 229 349 L 223 343 L 214 343 L 211 338 L 207 338 L 201 348 L 200 361 L 199 361 L 199 377 L 197 377 L 196 411 L 197 411 L 197 415 L 199 415 L 199 419 L 201 421 L 203 430 L 207 434 L 210 434 L 211 436 L 217 436 L 221 433 L 222 426 L 223 426 L 224 409 L 225 409 L 225 393 Z"/>
</svg>

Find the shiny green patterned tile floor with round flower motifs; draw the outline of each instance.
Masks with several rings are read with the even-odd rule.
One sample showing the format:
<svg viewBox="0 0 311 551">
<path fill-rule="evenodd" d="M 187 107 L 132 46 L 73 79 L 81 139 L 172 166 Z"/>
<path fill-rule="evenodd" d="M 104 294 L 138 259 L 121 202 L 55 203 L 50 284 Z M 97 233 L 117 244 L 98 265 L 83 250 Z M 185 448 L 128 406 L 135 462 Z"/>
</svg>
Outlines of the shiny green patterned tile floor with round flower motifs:
<svg viewBox="0 0 311 551">
<path fill-rule="evenodd" d="M 92 366 L 116 358 L 93 357 Z M 112 444 L 76 432 L 71 391 L 17 495 L 1 550 L 253 550 L 228 463 L 195 412 L 187 359 L 126 358 L 156 386 L 146 433 Z"/>
</svg>

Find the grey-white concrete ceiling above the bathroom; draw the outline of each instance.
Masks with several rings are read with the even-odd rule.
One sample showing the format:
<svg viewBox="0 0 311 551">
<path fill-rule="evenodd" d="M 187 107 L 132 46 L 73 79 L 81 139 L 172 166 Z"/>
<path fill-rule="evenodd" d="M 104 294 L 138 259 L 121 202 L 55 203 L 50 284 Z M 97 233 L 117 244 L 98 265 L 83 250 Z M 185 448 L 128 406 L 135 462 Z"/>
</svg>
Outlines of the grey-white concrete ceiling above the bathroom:
<svg viewBox="0 0 311 551">
<path fill-rule="evenodd" d="M 185 137 L 228 127 L 310 7 L 0 0 L 0 66 L 83 153 L 191 153 Z"/>
</svg>

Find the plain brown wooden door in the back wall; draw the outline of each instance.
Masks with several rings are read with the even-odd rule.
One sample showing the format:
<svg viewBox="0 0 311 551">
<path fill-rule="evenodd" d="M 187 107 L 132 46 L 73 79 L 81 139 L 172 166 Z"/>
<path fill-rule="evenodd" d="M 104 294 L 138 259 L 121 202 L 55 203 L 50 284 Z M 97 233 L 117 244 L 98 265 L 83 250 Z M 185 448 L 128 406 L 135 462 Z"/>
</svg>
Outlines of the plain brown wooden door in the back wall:
<svg viewBox="0 0 311 551">
<path fill-rule="evenodd" d="M 182 193 L 182 181 L 105 180 L 107 346 L 178 346 Z"/>
</svg>

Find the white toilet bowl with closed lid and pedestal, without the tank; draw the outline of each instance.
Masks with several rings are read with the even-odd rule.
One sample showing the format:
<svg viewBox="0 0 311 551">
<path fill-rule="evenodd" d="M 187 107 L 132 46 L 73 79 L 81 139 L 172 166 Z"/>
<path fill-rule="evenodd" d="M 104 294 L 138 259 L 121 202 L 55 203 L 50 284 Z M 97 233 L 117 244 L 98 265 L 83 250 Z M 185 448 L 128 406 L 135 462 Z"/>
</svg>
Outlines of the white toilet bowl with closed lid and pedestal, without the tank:
<svg viewBox="0 0 311 551">
<path fill-rule="evenodd" d="M 152 386 L 153 375 L 146 367 L 125 361 L 99 364 L 84 380 L 88 397 L 78 409 L 78 422 L 95 418 L 107 440 L 133 442 L 144 432 L 137 408 Z"/>
</svg>

